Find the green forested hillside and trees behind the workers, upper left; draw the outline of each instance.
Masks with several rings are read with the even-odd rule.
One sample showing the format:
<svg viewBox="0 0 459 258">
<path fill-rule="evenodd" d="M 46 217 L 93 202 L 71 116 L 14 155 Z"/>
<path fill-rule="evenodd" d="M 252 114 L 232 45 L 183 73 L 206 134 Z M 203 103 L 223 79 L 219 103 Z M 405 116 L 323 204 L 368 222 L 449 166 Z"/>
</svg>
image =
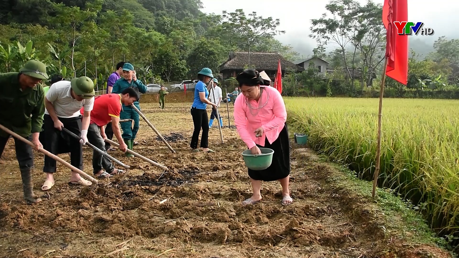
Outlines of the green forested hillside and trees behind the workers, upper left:
<svg viewBox="0 0 459 258">
<path fill-rule="evenodd" d="M 14 71 L 35 55 L 51 74 L 86 73 L 103 82 L 117 62 L 127 61 L 147 81 L 174 81 L 202 67 L 216 71 L 230 51 L 249 45 L 251 51 L 297 58 L 291 47 L 274 39 L 284 33 L 277 30 L 279 20 L 242 10 L 204 14 L 199 0 L 0 2 L 1 72 Z M 32 48 L 25 47 L 29 41 Z"/>
</svg>

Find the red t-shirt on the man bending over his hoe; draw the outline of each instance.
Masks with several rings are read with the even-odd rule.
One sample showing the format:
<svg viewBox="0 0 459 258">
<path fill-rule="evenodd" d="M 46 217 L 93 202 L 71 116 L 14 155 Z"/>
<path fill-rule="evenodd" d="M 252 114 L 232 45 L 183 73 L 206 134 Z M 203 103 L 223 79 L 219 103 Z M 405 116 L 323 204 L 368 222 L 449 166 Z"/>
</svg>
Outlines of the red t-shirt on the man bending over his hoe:
<svg viewBox="0 0 459 258">
<path fill-rule="evenodd" d="M 83 114 L 83 108 L 80 113 Z M 94 98 L 94 107 L 91 111 L 91 123 L 104 126 L 112 121 L 112 117 L 119 118 L 121 112 L 121 95 L 104 94 Z"/>
</svg>

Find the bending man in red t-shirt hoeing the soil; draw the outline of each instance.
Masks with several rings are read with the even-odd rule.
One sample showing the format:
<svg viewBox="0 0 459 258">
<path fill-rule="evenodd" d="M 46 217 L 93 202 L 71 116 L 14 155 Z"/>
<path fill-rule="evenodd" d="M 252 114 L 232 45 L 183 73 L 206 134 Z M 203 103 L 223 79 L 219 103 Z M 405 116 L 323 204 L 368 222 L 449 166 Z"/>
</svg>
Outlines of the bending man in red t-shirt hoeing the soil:
<svg viewBox="0 0 459 258">
<path fill-rule="evenodd" d="M 135 87 L 129 87 L 121 94 L 104 94 L 95 97 L 94 107 L 91 111 L 91 122 L 88 128 L 88 141 L 90 144 L 96 146 L 98 149 L 106 152 L 105 150 L 105 126 L 110 121 L 112 122 L 113 134 L 118 139 L 120 150 L 126 152 L 128 146 L 124 143 L 119 129 L 119 115 L 122 110 L 122 103 L 125 106 L 130 106 L 134 101 L 139 100 L 139 90 Z M 83 110 L 81 110 L 83 112 Z M 121 169 L 116 169 L 112 161 L 103 156 L 97 151 L 92 154 L 92 168 L 94 175 L 99 178 L 109 178 L 115 174 L 124 173 Z M 105 169 L 102 170 L 102 168 Z"/>
</svg>

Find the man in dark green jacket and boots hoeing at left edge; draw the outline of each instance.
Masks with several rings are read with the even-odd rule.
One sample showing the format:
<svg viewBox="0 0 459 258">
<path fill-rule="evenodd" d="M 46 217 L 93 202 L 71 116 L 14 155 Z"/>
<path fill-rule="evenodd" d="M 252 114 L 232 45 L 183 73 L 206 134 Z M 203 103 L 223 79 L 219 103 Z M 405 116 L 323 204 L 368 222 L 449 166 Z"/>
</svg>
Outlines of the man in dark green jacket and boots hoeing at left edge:
<svg viewBox="0 0 459 258">
<path fill-rule="evenodd" d="M 38 84 L 48 79 L 44 63 L 30 60 L 19 73 L 0 74 L 0 124 L 32 141 L 38 150 L 43 147 L 39 133 L 45 113 L 45 93 Z M 0 157 L 10 135 L 0 129 Z M 40 202 L 32 189 L 34 152 L 28 144 L 14 138 L 17 162 L 21 170 L 22 190 L 28 202 Z"/>
</svg>

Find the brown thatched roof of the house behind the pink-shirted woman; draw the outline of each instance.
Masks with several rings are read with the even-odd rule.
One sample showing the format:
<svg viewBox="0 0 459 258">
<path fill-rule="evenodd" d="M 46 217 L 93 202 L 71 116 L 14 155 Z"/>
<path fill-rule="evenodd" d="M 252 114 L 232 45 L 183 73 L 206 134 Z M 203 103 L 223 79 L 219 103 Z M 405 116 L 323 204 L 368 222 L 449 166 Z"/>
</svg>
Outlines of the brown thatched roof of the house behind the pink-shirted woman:
<svg viewBox="0 0 459 258">
<path fill-rule="evenodd" d="M 260 72 L 265 71 L 272 81 L 274 81 L 277 73 L 279 60 L 282 76 L 284 76 L 286 68 L 293 69 L 297 72 L 304 71 L 304 68 L 286 60 L 279 53 L 250 52 L 250 67 Z M 220 73 L 223 74 L 223 79 L 236 77 L 236 75 L 241 73 L 248 64 L 249 52 L 233 52 L 229 54 L 228 61 L 220 66 Z"/>
</svg>

